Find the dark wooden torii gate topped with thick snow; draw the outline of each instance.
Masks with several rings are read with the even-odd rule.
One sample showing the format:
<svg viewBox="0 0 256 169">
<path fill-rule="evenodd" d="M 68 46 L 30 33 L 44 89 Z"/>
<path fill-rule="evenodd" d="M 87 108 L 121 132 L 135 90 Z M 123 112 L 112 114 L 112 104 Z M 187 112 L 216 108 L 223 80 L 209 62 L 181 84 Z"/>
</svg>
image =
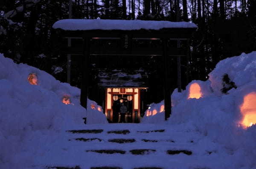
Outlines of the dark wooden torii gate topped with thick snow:
<svg viewBox="0 0 256 169">
<path fill-rule="evenodd" d="M 144 20 L 59 20 L 52 26 L 62 37 L 67 38 L 68 44 L 64 53 L 68 55 L 67 82 L 70 82 L 71 54 L 82 54 L 83 65 L 80 103 L 87 109 L 89 57 L 93 55 L 113 56 L 163 56 L 164 69 L 164 104 L 165 120 L 171 114 L 171 89 L 167 57 L 177 57 L 177 87 L 181 88 L 180 57 L 188 57 L 189 38 L 197 29 L 194 23 Z M 81 39 L 82 46 L 72 45 L 72 39 Z M 120 48 L 105 49 L 102 46 L 90 45 L 91 39 L 120 39 Z M 132 48 L 132 40 L 161 40 L 161 49 Z M 176 41 L 175 48 L 168 47 L 168 41 Z M 186 41 L 186 50 L 180 48 L 180 41 Z"/>
</svg>

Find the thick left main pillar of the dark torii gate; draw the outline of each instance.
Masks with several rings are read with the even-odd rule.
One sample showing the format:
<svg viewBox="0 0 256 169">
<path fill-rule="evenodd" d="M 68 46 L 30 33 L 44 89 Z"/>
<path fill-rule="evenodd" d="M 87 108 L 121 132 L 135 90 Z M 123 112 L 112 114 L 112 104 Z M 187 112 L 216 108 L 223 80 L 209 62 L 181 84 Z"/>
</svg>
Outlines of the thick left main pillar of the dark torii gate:
<svg viewBox="0 0 256 169">
<path fill-rule="evenodd" d="M 81 95 L 80 95 L 80 104 L 87 110 L 87 97 L 88 97 L 88 86 L 90 82 L 89 78 L 89 57 L 90 57 L 90 38 L 85 37 L 83 39 L 84 46 L 84 57 L 82 59 L 82 64 L 84 65 L 83 74 L 82 74 L 82 83 L 81 83 Z"/>
</svg>

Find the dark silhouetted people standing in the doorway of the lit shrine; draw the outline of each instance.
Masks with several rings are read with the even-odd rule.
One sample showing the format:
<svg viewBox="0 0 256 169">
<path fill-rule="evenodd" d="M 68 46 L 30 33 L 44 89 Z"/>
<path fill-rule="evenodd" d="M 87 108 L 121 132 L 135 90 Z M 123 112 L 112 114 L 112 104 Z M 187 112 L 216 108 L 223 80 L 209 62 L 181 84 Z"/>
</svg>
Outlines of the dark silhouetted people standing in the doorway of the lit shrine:
<svg viewBox="0 0 256 169">
<path fill-rule="evenodd" d="M 113 123 L 125 123 L 125 115 L 128 114 L 128 109 L 123 102 L 113 104 Z M 120 121 L 119 121 L 120 115 Z"/>
</svg>

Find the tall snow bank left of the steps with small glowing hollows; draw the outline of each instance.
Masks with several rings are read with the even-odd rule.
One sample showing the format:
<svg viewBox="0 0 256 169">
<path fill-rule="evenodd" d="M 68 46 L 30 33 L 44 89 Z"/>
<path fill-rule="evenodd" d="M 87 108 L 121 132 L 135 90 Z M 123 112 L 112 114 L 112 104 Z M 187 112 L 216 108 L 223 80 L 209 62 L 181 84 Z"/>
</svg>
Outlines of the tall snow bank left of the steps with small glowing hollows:
<svg viewBox="0 0 256 169">
<path fill-rule="evenodd" d="M 54 135 L 81 128 L 85 125 L 84 117 L 87 124 L 107 123 L 102 111 L 89 107 L 86 112 L 80 106 L 78 88 L 59 82 L 42 70 L 17 65 L 0 54 L 0 72 L 0 168 L 19 169 L 25 165 L 26 153 L 39 148 L 39 140 L 45 133 Z M 37 74 L 38 85 L 29 84 L 29 73 Z M 63 104 L 63 96 L 69 96 L 71 104 Z M 88 104 L 99 107 L 93 101 Z M 24 159 L 15 159 L 19 153 L 25 154 Z"/>
</svg>

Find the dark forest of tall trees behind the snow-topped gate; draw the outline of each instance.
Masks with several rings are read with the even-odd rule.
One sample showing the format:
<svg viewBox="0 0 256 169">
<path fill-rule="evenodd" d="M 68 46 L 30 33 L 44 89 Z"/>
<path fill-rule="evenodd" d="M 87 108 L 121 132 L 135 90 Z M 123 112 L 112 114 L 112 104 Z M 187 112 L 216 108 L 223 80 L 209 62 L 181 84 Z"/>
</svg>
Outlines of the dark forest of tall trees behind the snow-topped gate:
<svg viewBox="0 0 256 169">
<path fill-rule="evenodd" d="M 67 57 L 53 23 L 69 18 L 70 0 L 1 0 L 0 53 L 66 81 Z M 256 51 L 256 0 L 72 0 L 72 18 L 191 21 L 189 79 L 206 80 L 216 63 Z"/>
</svg>

